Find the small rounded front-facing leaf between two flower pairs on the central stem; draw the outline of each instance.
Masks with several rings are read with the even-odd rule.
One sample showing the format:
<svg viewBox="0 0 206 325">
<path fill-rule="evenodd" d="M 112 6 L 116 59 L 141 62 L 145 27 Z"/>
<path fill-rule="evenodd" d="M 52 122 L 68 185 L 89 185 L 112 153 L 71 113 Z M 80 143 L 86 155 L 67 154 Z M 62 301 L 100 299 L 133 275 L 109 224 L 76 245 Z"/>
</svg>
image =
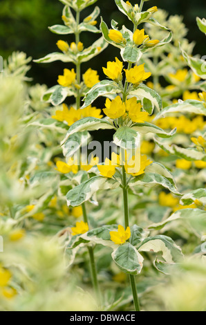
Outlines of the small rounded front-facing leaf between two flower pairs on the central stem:
<svg viewBox="0 0 206 325">
<path fill-rule="evenodd" d="M 140 147 L 140 134 L 129 127 L 120 127 L 113 136 L 113 142 L 123 149 Z"/>
</svg>

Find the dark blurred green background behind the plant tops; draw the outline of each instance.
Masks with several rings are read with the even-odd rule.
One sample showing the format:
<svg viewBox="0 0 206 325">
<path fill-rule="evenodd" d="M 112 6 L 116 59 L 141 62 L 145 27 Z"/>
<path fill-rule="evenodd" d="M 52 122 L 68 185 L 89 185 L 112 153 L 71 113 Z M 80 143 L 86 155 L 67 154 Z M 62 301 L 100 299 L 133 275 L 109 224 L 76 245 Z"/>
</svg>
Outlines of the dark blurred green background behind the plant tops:
<svg viewBox="0 0 206 325">
<path fill-rule="evenodd" d="M 131 3 L 140 3 L 132 1 Z M 111 19 L 115 19 L 120 25 L 126 24 L 129 27 L 126 17 L 118 11 L 114 0 L 99 0 L 96 3 L 101 8 L 101 15 L 104 21 L 110 24 Z M 195 54 L 206 55 L 205 35 L 196 26 L 196 16 L 206 17 L 205 0 L 150 0 L 144 4 L 145 8 L 158 6 L 167 10 L 170 15 L 184 16 L 184 23 L 189 29 L 189 41 L 196 41 Z M 1 0 L 0 11 L 0 55 L 8 57 L 13 50 L 22 50 L 33 59 L 43 57 L 48 53 L 57 50 L 58 39 L 73 41 L 73 36 L 62 37 L 55 35 L 48 30 L 48 26 L 61 24 L 63 4 L 58 0 Z M 87 8 L 82 13 L 82 18 L 90 14 L 93 8 Z M 98 24 L 100 22 L 100 18 Z M 98 35 L 84 32 L 81 35 L 84 46 L 89 46 Z M 88 67 L 95 68 L 100 77 L 103 78 L 102 66 L 106 65 L 106 60 L 113 59 L 119 51 L 113 46 L 109 46 L 97 59 L 84 64 L 83 70 Z M 53 64 L 32 63 L 29 76 L 33 78 L 33 83 L 47 84 L 53 86 L 57 82 L 57 75 L 62 74 L 66 67 L 62 62 Z M 70 67 L 68 65 L 68 67 Z"/>
</svg>

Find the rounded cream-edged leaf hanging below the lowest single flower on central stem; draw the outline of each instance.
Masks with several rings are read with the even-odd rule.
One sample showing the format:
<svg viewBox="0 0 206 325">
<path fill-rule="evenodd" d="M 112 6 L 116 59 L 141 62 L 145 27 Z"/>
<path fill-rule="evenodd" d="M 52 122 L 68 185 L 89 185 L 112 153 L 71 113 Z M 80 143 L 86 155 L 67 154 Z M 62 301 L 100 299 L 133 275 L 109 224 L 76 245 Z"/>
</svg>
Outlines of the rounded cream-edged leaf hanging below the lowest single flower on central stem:
<svg viewBox="0 0 206 325">
<path fill-rule="evenodd" d="M 120 245 L 111 256 L 123 272 L 130 275 L 140 274 L 144 259 L 131 243 Z"/>
</svg>

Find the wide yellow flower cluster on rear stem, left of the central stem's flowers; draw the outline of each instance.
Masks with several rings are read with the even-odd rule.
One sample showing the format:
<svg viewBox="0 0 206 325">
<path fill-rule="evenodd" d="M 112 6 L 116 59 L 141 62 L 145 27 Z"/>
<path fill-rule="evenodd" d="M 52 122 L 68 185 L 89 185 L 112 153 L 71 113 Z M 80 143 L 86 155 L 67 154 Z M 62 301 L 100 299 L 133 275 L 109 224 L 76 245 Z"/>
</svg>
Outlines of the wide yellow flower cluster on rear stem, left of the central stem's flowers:
<svg viewBox="0 0 206 325">
<path fill-rule="evenodd" d="M 57 110 L 52 118 L 60 122 L 66 122 L 70 127 L 74 122 L 77 122 L 82 118 L 87 118 L 88 116 L 93 116 L 93 118 L 103 118 L 101 109 L 97 109 L 91 105 L 85 109 L 74 109 L 72 106 L 70 109 L 68 109 L 66 104 L 63 104 L 63 110 Z"/>
</svg>

